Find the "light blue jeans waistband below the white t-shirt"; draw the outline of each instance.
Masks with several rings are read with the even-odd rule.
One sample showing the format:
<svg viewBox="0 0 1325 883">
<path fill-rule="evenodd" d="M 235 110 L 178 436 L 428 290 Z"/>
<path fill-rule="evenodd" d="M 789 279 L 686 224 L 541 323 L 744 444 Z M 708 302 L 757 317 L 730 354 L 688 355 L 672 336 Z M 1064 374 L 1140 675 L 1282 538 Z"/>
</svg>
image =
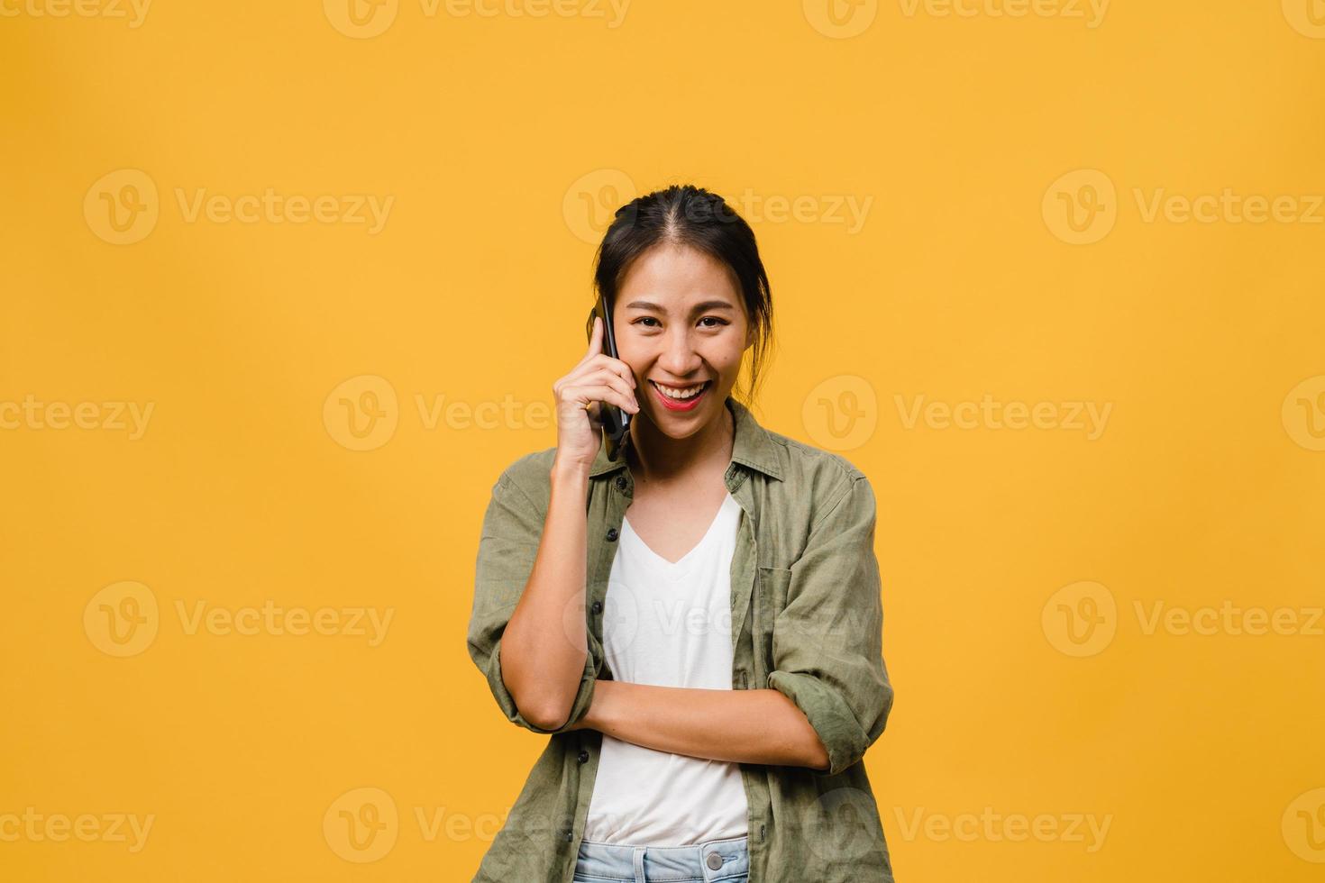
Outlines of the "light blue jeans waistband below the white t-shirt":
<svg viewBox="0 0 1325 883">
<path fill-rule="evenodd" d="M 714 867 L 716 866 L 716 867 Z M 746 837 L 694 846 L 631 846 L 580 841 L 575 883 L 749 883 Z"/>
</svg>

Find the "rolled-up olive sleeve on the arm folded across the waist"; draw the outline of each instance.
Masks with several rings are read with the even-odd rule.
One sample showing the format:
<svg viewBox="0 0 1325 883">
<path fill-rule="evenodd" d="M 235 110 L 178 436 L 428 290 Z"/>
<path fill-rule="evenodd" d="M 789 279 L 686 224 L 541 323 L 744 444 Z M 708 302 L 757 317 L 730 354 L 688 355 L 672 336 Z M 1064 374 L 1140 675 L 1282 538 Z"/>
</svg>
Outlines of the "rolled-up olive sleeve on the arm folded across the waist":
<svg viewBox="0 0 1325 883">
<path fill-rule="evenodd" d="M 893 688 L 882 655 L 874 492 L 849 474 L 791 565 L 772 630 L 768 686 L 804 712 L 836 776 L 864 757 L 888 723 Z"/>
</svg>

